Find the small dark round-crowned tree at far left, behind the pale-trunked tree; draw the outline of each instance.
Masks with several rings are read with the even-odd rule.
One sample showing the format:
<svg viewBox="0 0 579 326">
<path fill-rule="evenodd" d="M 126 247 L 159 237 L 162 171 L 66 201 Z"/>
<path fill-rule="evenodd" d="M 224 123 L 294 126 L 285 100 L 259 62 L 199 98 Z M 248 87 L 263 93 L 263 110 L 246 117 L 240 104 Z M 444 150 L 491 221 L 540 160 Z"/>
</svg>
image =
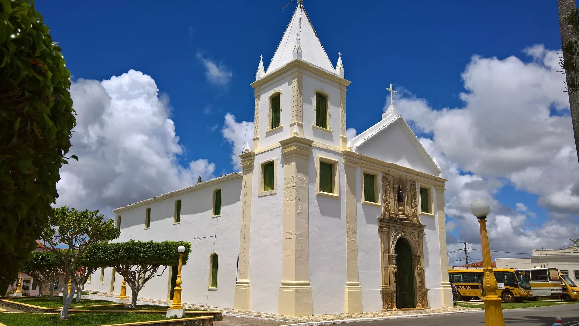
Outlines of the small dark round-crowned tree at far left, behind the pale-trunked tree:
<svg viewBox="0 0 579 326">
<path fill-rule="evenodd" d="M 30 258 L 22 264 L 21 270 L 32 276 L 38 283 L 38 296 L 42 296 L 42 285 L 49 284 L 50 299 L 52 299 L 54 282 L 58 280 L 62 265 L 60 257 L 52 251 L 33 251 Z"/>
</svg>

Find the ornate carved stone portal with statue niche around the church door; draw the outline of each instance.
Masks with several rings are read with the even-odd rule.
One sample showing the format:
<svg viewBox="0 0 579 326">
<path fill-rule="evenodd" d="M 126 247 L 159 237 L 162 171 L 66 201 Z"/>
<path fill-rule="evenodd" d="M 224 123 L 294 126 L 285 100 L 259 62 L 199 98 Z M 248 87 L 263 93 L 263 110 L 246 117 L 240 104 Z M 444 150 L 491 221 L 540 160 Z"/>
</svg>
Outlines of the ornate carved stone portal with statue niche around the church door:
<svg viewBox="0 0 579 326">
<path fill-rule="evenodd" d="M 420 224 L 417 212 L 416 182 L 401 177 L 382 175 L 383 206 L 382 215 L 378 218 L 378 234 L 382 248 L 382 310 L 397 310 L 396 273 L 397 241 L 404 238 L 412 251 L 414 269 L 415 307 L 427 309 L 428 298 L 424 279 L 424 225 Z M 402 191 L 402 201 L 398 198 Z"/>
</svg>

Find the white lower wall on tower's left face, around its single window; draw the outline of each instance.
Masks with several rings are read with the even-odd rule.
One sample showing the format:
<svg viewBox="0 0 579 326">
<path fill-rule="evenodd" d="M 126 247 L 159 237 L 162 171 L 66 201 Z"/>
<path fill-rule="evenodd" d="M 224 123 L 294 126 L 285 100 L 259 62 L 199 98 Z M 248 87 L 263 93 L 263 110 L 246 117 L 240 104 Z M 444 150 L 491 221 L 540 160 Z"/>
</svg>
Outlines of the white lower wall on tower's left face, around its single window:
<svg viewBox="0 0 579 326">
<path fill-rule="evenodd" d="M 285 127 L 284 127 L 285 128 Z M 277 193 L 258 197 L 261 163 L 277 160 Z M 283 258 L 284 171 L 281 147 L 255 155 L 251 199 L 250 309 L 278 313 Z M 237 236 L 239 238 L 239 236 Z M 240 248 L 243 251 L 243 248 Z"/>
</svg>

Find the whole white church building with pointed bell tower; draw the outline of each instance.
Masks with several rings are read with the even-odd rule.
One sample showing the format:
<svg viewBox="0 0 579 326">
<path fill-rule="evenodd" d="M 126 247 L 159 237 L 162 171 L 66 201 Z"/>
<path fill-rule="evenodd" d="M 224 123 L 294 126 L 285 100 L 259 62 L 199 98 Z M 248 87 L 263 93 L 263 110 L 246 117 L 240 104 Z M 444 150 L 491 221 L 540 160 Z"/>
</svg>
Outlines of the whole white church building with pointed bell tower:
<svg viewBox="0 0 579 326">
<path fill-rule="evenodd" d="M 347 139 L 349 84 L 298 1 L 251 84 L 243 172 L 115 209 L 115 241 L 192 242 L 185 303 L 283 316 L 452 306 L 446 180 L 393 104 Z M 175 274 L 139 296 L 170 299 Z M 97 270 L 85 288 L 118 294 L 115 275 Z"/>
</svg>

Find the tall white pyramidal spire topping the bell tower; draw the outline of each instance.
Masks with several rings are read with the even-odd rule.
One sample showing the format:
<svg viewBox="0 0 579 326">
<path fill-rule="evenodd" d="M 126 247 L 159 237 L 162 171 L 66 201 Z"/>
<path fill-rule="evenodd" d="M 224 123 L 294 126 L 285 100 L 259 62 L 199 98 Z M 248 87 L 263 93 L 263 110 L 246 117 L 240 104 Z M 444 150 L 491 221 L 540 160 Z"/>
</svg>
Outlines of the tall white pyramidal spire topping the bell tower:
<svg viewBox="0 0 579 326">
<path fill-rule="evenodd" d="M 314 66 L 334 72 L 334 66 L 325 53 L 312 22 L 303 9 L 302 1 L 298 1 L 294 16 L 277 46 L 276 53 L 267 67 L 266 74 L 283 67 L 294 59 L 301 59 Z"/>
</svg>

